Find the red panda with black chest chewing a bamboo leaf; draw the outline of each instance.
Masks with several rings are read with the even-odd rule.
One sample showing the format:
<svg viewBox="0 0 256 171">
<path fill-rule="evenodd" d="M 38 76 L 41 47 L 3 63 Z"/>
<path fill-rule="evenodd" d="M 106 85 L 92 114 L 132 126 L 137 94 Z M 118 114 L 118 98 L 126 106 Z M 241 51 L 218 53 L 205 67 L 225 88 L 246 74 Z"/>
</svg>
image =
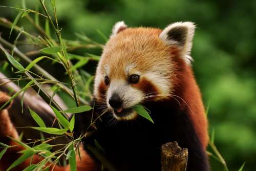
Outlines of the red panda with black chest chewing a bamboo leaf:
<svg viewBox="0 0 256 171">
<path fill-rule="evenodd" d="M 187 170 L 209 170 L 207 119 L 190 63 L 194 31 L 190 22 L 164 30 L 128 28 L 123 22 L 113 27 L 95 75 L 94 113 L 75 114 L 74 134 L 84 134 L 92 115 L 100 115 L 97 131 L 82 141 L 97 140 L 115 170 L 160 170 L 160 147 L 172 141 L 188 148 Z M 135 112 L 136 104 L 151 111 L 154 123 Z M 78 170 L 100 170 L 83 147 L 86 157 Z"/>
</svg>

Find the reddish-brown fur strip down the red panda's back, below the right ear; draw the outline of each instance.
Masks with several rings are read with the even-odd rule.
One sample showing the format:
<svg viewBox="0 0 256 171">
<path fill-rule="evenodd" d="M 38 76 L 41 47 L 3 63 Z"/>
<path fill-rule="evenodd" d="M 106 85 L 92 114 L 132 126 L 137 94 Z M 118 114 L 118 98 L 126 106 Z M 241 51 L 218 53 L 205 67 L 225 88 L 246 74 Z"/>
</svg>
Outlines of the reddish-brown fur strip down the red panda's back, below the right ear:
<svg viewBox="0 0 256 171">
<path fill-rule="evenodd" d="M 179 49 L 170 49 L 172 59 L 174 61 L 174 75 L 172 77 L 174 83 L 173 94 L 180 102 L 180 108 L 183 109 L 188 105 L 190 109 L 188 115 L 193 121 L 196 133 L 204 148 L 208 144 L 207 119 L 205 116 L 204 105 L 201 98 L 200 90 L 197 86 L 196 79 L 190 65 L 186 65 L 183 59 L 179 58 Z M 179 87 L 177 89 L 177 87 Z"/>
</svg>

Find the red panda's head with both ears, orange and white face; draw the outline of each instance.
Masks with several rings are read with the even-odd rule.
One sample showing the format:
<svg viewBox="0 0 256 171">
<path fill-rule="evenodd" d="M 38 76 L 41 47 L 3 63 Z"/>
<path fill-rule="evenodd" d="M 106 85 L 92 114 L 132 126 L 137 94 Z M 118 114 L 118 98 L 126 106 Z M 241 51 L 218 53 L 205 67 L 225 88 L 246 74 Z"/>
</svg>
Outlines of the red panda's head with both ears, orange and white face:
<svg viewBox="0 0 256 171">
<path fill-rule="evenodd" d="M 190 65 L 195 25 L 190 22 L 155 28 L 127 28 L 118 22 L 99 61 L 94 96 L 118 120 L 131 120 L 133 106 L 170 98 L 177 72 Z"/>
</svg>

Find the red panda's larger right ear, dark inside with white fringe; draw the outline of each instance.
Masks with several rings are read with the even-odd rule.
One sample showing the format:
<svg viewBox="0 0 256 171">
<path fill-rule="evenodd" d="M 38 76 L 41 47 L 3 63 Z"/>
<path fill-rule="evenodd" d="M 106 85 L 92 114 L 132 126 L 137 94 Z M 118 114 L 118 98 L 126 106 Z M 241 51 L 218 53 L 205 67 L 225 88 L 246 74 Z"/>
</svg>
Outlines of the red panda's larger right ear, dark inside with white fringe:
<svg viewBox="0 0 256 171">
<path fill-rule="evenodd" d="M 168 25 L 159 35 L 167 45 L 178 46 L 182 50 L 182 58 L 187 63 L 193 60 L 190 56 L 195 24 L 191 22 L 177 22 Z"/>
</svg>

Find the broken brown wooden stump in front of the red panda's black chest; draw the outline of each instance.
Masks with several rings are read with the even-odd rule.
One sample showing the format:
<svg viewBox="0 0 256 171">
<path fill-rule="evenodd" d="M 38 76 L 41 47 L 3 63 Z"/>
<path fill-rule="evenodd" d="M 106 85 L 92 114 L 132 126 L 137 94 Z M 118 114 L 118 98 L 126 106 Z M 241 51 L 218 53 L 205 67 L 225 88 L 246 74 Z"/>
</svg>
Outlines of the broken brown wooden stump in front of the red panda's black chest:
<svg viewBox="0 0 256 171">
<path fill-rule="evenodd" d="M 163 144 L 162 171 L 185 171 L 188 159 L 187 148 L 181 148 L 178 143 L 169 142 Z"/>
</svg>

